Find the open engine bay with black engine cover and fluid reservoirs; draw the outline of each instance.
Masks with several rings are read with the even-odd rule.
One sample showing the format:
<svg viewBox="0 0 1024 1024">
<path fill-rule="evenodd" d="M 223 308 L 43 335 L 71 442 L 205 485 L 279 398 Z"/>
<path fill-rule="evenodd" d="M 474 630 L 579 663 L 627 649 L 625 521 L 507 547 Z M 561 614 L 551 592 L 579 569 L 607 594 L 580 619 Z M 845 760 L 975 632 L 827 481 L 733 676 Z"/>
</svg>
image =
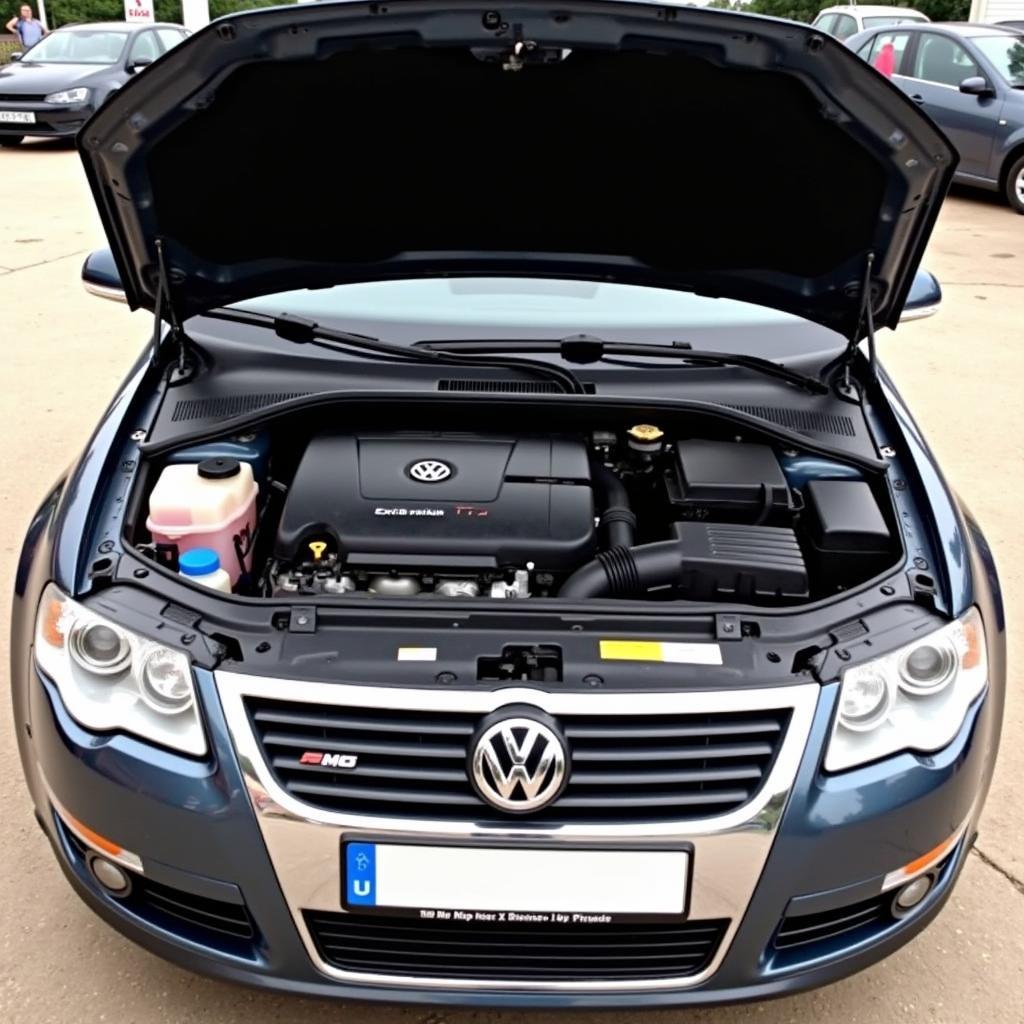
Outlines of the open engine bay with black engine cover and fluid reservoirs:
<svg viewBox="0 0 1024 1024">
<path fill-rule="evenodd" d="M 154 460 L 142 486 L 136 550 L 250 597 L 792 605 L 902 553 L 884 477 L 644 422 L 264 427 Z"/>
</svg>

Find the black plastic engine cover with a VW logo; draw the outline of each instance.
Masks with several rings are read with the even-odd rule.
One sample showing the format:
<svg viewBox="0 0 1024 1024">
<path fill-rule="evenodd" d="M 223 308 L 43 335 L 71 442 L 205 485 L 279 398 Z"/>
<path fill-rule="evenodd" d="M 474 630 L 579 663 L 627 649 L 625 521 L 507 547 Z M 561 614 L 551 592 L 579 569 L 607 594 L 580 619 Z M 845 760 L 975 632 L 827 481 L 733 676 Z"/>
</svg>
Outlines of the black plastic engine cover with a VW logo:
<svg viewBox="0 0 1024 1024">
<path fill-rule="evenodd" d="M 288 494 L 274 555 L 327 543 L 352 568 L 567 572 L 595 551 L 581 438 L 323 434 Z M 322 549 L 323 550 L 323 549 Z"/>
</svg>

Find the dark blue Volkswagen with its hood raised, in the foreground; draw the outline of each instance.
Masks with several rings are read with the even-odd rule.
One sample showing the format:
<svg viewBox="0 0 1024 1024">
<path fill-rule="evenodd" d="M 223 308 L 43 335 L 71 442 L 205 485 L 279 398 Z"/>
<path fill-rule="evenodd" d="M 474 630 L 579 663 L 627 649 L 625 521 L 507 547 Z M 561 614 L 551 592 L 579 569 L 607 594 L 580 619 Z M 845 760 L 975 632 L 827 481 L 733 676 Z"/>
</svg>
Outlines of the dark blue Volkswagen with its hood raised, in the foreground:
<svg viewBox="0 0 1024 1024">
<path fill-rule="evenodd" d="M 876 353 L 939 300 L 912 102 L 770 18 L 321 3 L 78 145 L 86 284 L 154 331 L 29 527 L 11 678 L 89 906 L 268 988 L 620 1010 L 935 918 L 1006 623 Z"/>
</svg>

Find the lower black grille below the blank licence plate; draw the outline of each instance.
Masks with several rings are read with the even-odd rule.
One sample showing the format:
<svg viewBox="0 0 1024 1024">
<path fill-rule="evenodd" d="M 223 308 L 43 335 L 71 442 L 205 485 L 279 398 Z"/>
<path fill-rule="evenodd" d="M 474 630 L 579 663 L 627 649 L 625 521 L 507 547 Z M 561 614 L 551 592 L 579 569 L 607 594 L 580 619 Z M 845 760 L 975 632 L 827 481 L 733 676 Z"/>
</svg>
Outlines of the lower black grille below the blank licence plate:
<svg viewBox="0 0 1024 1024">
<path fill-rule="evenodd" d="M 728 925 L 493 927 L 303 912 L 321 958 L 340 970 L 494 981 L 685 978 L 708 967 Z"/>
</svg>

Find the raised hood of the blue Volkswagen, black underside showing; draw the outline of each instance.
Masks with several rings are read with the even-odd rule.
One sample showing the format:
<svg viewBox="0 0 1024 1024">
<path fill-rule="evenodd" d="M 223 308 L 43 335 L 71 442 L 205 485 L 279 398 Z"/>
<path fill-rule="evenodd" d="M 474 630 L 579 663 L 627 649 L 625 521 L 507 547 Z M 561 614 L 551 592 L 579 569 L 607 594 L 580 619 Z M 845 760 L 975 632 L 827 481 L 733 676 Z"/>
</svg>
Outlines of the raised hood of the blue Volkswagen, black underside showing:
<svg viewBox="0 0 1024 1024">
<path fill-rule="evenodd" d="M 547 275 L 895 326 L 955 151 L 842 44 L 633 2 L 221 18 L 79 135 L 129 303 Z M 165 273 L 160 272 L 160 251 Z M 169 303 L 168 303 L 169 297 Z"/>
</svg>

